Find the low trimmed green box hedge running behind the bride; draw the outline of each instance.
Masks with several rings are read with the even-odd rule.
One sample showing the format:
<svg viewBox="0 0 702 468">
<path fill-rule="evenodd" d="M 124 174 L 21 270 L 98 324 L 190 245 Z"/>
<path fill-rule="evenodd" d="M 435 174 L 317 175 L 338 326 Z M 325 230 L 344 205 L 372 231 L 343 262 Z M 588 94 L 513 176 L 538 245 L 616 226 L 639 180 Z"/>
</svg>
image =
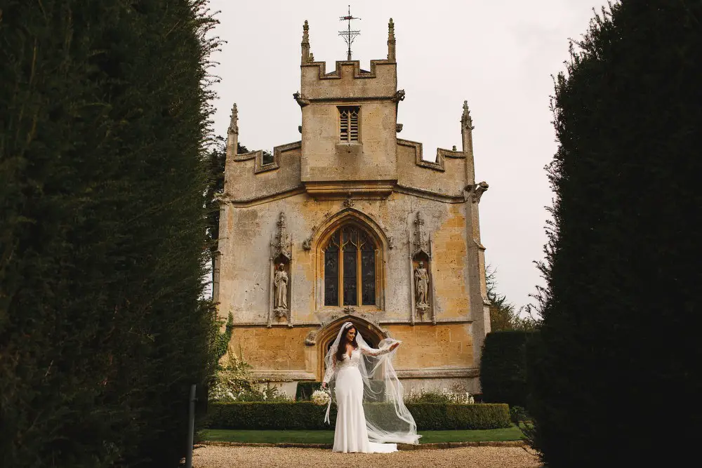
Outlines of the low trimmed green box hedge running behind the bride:
<svg viewBox="0 0 702 468">
<path fill-rule="evenodd" d="M 383 403 L 378 403 L 383 404 Z M 408 403 L 417 429 L 465 430 L 510 427 L 510 408 L 505 403 L 460 405 Z M 206 426 L 212 429 L 330 429 L 336 424 L 336 405 L 331 406 L 331 424 L 324 422 L 326 406 L 310 401 L 251 401 L 211 403 Z"/>
</svg>

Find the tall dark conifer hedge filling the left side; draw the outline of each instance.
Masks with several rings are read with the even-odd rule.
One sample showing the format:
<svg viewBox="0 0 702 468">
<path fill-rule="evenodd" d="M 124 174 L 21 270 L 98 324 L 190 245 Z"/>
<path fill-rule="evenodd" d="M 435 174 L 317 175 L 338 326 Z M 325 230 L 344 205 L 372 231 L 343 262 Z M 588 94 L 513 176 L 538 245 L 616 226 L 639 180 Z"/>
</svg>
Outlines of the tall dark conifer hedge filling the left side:
<svg viewBox="0 0 702 468">
<path fill-rule="evenodd" d="M 210 372 L 203 4 L 0 4 L 3 467 L 185 453 Z"/>
</svg>

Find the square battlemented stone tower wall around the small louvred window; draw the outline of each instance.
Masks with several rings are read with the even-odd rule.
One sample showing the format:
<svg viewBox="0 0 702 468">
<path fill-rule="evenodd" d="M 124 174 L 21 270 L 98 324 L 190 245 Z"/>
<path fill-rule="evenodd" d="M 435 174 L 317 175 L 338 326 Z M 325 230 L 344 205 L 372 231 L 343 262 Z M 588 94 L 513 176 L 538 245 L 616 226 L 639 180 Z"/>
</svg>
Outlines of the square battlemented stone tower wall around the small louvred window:
<svg viewBox="0 0 702 468">
<path fill-rule="evenodd" d="M 300 79 L 305 158 L 303 182 L 397 180 L 395 62 L 373 60 L 363 72 L 358 61 L 301 67 Z M 338 106 L 359 106 L 359 141 L 339 140 Z"/>
</svg>

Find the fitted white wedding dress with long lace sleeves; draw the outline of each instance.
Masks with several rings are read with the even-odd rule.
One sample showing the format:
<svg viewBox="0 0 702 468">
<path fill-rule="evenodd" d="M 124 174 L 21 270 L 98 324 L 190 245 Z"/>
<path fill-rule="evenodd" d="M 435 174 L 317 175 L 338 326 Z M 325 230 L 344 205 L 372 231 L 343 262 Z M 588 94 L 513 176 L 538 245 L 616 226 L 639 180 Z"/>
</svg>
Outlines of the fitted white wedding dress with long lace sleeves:
<svg viewBox="0 0 702 468">
<path fill-rule="evenodd" d="M 388 349 L 359 347 L 351 356 L 344 354 L 339 363 L 327 370 L 336 373 L 336 430 L 334 432 L 334 452 L 392 453 L 397 451 L 397 443 L 376 443 L 368 439 L 366 415 L 363 410 L 363 377 L 359 366 L 363 365 L 362 354 L 378 356 Z"/>
</svg>

